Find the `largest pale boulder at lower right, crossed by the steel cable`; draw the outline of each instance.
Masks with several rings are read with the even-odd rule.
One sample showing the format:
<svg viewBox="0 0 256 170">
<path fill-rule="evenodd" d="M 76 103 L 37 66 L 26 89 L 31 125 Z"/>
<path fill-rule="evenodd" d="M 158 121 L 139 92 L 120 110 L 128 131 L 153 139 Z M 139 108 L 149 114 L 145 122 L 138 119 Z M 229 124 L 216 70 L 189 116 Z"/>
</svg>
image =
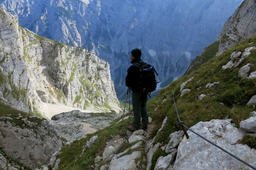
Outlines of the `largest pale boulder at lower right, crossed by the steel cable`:
<svg viewBox="0 0 256 170">
<path fill-rule="evenodd" d="M 199 122 L 191 129 L 216 143 L 249 164 L 256 166 L 256 150 L 247 145 L 238 144 L 245 133 L 230 123 L 231 119 L 211 120 Z M 183 138 L 176 156 L 173 169 L 191 170 L 201 169 L 248 169 L 248 166 L 227 155 L 222 150 L 204 141 L 194 133 L 188 131 L 189 139 Z M 196 155 L 196 156 L 194 156 Z M 218 163 L 216 163 L 218 162 Z"/>
</svg>

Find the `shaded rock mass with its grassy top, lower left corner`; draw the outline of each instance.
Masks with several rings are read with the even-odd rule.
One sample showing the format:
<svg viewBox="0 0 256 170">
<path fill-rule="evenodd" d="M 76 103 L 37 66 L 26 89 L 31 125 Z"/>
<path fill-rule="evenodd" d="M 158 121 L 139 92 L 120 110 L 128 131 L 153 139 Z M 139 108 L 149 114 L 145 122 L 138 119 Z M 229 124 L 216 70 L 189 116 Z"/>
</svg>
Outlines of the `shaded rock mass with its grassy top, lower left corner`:
<svg viewBox="0 0 256 170">
<path fill-rule="evenodd" d="M 46 119 L 28 115 L 0 102 L 0 168 L 35 169 L 48 164 L 62 140 Z M 17 162 L 21 163 L 20 165 Z"/>
</svg>

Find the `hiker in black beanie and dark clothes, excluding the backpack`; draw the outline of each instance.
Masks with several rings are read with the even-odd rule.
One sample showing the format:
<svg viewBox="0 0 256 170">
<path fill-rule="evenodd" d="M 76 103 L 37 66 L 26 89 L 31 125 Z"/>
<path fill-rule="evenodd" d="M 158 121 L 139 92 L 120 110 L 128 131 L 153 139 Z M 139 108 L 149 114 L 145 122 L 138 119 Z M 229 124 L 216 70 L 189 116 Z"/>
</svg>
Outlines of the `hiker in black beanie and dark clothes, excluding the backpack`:
<svg viewBox="0 0 256 170">
<path fill-rule="evenodd" d="M 142 129 L 144 130 L 148 127 L 148 113 L 146 106 L 148 93 L 145 93 L 142 90 L 140 83 L 140 68 L 134 64 L 138 63 L 140 66 L 145 64 L 140 57 L 141 50 L 137 48 L 133 49 L 130 55 L 132 65 L 128 68 L 127 76 L 125 78 L 126 86 L 132 90 L 132 107 L 134 115 L 133 125 L 130 125 L 127 128 L 129 131 L 140 130 L 140 126 L 142 126 Z M 140 124 L 140 119 L 142 119 L 142 124 Z"/>
</svg>

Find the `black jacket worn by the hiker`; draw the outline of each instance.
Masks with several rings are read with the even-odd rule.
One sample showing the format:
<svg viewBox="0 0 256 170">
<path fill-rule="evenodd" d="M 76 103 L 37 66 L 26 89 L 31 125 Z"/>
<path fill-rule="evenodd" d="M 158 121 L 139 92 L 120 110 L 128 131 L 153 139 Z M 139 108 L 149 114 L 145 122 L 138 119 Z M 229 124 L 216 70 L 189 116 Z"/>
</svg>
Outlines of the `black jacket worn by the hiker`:
<svg viewBox="0 0 256 170">
<path fill-rule="evenodd" d="M 142 87 L 140 84 L 140 68 L 133 65 L 133 63 L 138 63 L 140 66 L 144 65 L 144 62 L 140 58 L 136 58 L 131 61 L 132 65 L 127 70 L 127 76 L 125 78 L 125 84 L 130 87 L 133 92 L 142 92 Z"/>
</svg>

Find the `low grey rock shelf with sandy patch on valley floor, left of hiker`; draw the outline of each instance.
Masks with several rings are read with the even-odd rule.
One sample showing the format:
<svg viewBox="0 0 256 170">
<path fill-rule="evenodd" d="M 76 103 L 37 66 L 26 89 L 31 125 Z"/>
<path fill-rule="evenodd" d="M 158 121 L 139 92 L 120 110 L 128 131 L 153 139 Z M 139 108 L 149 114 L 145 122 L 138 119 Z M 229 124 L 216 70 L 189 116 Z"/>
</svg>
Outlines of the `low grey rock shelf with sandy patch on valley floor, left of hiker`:
<svg viewBox="0 0 256 170">
<path fill-rule="evenodd" d="M 103 129 L 119 116 L 116 113 L 84 113 L 73 110 L 54 115 L 50 124 L 54 126 L 59 136 L 70 143 Z"/>
</svg>

